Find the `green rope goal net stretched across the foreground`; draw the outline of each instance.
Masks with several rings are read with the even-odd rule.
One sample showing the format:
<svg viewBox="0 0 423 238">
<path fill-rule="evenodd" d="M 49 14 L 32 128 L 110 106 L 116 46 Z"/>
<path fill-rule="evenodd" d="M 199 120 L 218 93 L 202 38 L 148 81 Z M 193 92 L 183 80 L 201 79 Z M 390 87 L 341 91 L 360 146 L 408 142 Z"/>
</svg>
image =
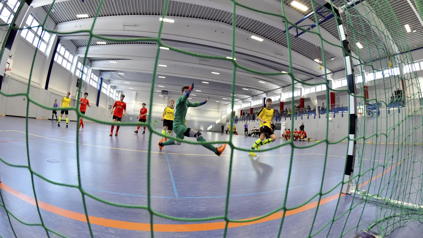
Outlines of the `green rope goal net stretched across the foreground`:
<svg viewBox="0 0 423 238">
<path fill-rule="evenodd" d="M 172 1 L 165 0 L 162 5 L 162 18 L 165 18 Z M 3 3 L 3 1 L 2 1 Z M 48 227 L 44 224 L 43 217 L 41 216 L 40 201 L 38 201 L 34 178 L 39 177 L 49 183 L 66 186 L 71 188 L 77 188 L 82 195 L 82 202 L 84 205 L 85 218 L 82 218 L 83 221 L 87 224 L 87 229 L 89 230 L 91 237 L 95 237 L 93 230 L 91 228 L 92 224 L 96 224 L 96 221 L 90 219 L 87 212 L 87 206 L 85 200 L 87 197 L 94 199 L 104 204 L 121 207 L 121 208 L 136 208 L 140 210 L 146 210 L 150 214 L 150 224 L 146 230 L 151 232 L 151 237 L 154 237 L 154 229 L 159 229 L 155 222 L 155 217 L 161 217 L 164 219 L 169 219 L 179 222 L 212 222 L 212 221 L 224 221 L 225 226 L 222 227 L 224 230 L 223 237 L 227 237 L 227 232 L 230 227 L 235 227 L 240 223 L 254 223 L 255 221 L 260 221 L 262 219 L 269 219 L 274 216 L 280 216 L 279 225 L 277 227 L 272 227 L 269 229 L 275 229 L 278 231 L 277 237 L 283 237 L 283 229 L 285 227 L 286 216 L 293 210 L 302 209 L 310 206 L 310 204 L 316 204 L 315 213 L 313 215 L 313 221 L 310 227 L 304 229 L 308 230 L 306 237 L 352 237 L 354 233 L 360 230 L 375 230 L 379 232 L 380 235 L 386 236 L 389 235 L 397 227 L 403 226 L 406 221 L 423 221 L 422 215 L 422 105 L 421 105 L 421 89 L 420 83 L 418 81 L 417 71 L 423 67 L 423 63 L 420 64 L 420 61 L 414 61 L 412 57 L 413 49 L 409 48 L 407 43 L 406 30 L 403 26 L 400 25 L 398 16 L 396 15 L 393 6 L 389 3 L 388 0 L 367 0 L 365 2 L 360 1 L 346 1 L 346 0 L 335 0 L 335 1 L 316 1 L 311 0 L 310 6 L 310 16 L 308 19 L 316 23 L 315 26 L 301 26 L 302 24 L 295 24 L 292 19 L 286 17 L 286 8 L 288 6 L 288 1 L 281 1 L 280 5 L 280 14 L 269 13 L 266 11 L 261 11 L 259 9 L 252 8 L 250 6 L 245 6 L 238 1 L 232 1 L 233 9 L 231 14 L 231 21 L 229 24 L 232 26 L 233 34 L 232 39 L 232 54 L 230 57 L 222 57 L 215 55 L 203 55 L 199 53 L 192 53 L 186 50 L 181 50 L 177 47 L 172 47 L 166 45 L 162 42 L 162 27 L 165 22 L 160 23 L 160 28 L 158 34 L 154 38 L 145 38 L 145 37 L 133 37 L 133 38 L 113 38 L 103 35 L 93 34 L 93 26 L 96 24 L 96 19 L 102 17 L 100 14 L 101 9 L 104 5 L 104 1 L 99 1 L 99 4 L 96 9 L 96 15 L 93 19 L 92 28 L 86 30 L 80 30 L 75 32 L 67 32 L 66 34 L 73 33 L 88 33 L 90 38 L 88 40 L 87 48 L 90 47 L 90 42 L 94 39 L 103 39 L 112 42 L 131 43 L 131 42 L 156 42 L 157 43 L 157 55 L 154 62 L 154 72 L 152 75 L 153 87 L 151 87 L 150 92 L 150 102 L 149 108 L 152 108 L 153 104 L 153 94 L 154 94 L 154 84 L 156 80 L 156 72 L 158 66 L 158 60 L 160 57 L 159 47 L 167 47 L 170 50 L 177 51 L 179 53 L 192 55 L 201 58 L 209 58 L 220 61 L 225 61 L 227 64 L 233 66 L 233 77 L 232 77 L 232 94 L 235 94 L 235 83 L 236 83 L 236 71 L 241 70 L 245 72 L 250 72 L 255 75 L 289 75 L 291 77 L 291 86 L 289 88 L 291 91 L 294 91 L 294 83 L 302 83 L 304 86 L 316 86 L 316 85 L 326 85 L 326 98 L 329 99 L 330 91 L 335 92 L 346 92 L 349 96 L 349 110 L 356 111 L 356 117 L 351 119 L 356 119 L 357 122 L 351 122 L 348 119 L 349 126 L 356 125 L 354 129 L 355 137 L 350 137 L 345 135 L 345 137 L 339 141 L 329 141 L 328 133 L 326 132 L 326 139 L 319 142 L 313 142 L 312 144 L 307 144 L 306 146 L 299 146 L 293 141 L 283 141 L 278 144 L 271 144 L 271 147 L 262 149 L 261 152 L 266 152 L 272 149 L 277 149 L 280 147 L 289 147 L 291 148 L 290 156 L 290 167 L 287 174 L 288 180 L 286 183 L 286 188 L 289 187 L 291 181 L 291 168 L 292 162 L 294 161 L 294 149 L 324 146 L 326 148 L 326 153 L 324 155 L 325 163 L 324 169 L 326 169 L 326 161 L 328 160 L 328 155 L 330 154 L 330 146 L 333 144 L 343 143 L 347 141 L 347 145 L 350 145 L 349 141 L 354 141 L 355 146 L 355 158 L 354 158 L 354 169 L 350 179 L 339 179 L 338 184 L 329 190 L 323 190 L 323 182 L 325 180 L 324 172 L 323 177 L 319 178 L 321 184 L 319 185 L 320 191 L 314 196 L 308 198 L 306 202 L 298 207 L 288 207 L 286 205 L 286 198 L 288 197 L 288 189 L 286 189 L 285 198 L 280 203 L 280 207 L 273 210 L 272 212 L 262 214 L 262 216 L 244 219 L 244 220 L 233 220 L 228 217 L 228 204 L 229 204 L 229 195 L 231 188 L 231 172 L 233 166 L 233 153 L 235 150 L 241 150 L 247 153 L 250 151 L 249 148 L 241 148 L 237 144 L 232 142 L 233 135 L 229 136 L 228 141 L 209 141 L 207 143 L 217 144 L 217 143 L 227 143 L 229 149 L 227 148 L 229 157 L 229 174 L 228 174 L 228 186 L 226 191 L 226 200 L 225 200 L 225 213 L 221 216 L 213 217 L 203 217 L 201 219 L 196 218 L 181 218 L 175 216 L 168 216 L 162 213 L 155 211 L 151 206 L 151 183 L 150 178 L 153 176 L 151 174 L 151 151 L 153 147 L 156 147 L 157 144 L 155 141 L 152 141 L 152 136 L 154 133 L 159 135 L 157 131 L 152 128 L 151 124 L 148 123 L 121 123 L 119 125 L 126 126 L 146 126 L 149 130 L 149 142 L 148 142 L 148 162 L 146 167 L 146 174 L 148 175 L 147 181 L 147 196 L 148 202 L 146 206 L 137 206 L 137 205 L 127 205 L 127 204 L 118 204 L 110 202 L 104 199 L 95 196 L 88 191 L 84 190 L 81 185 L 81 176 L 80 176 L 80 158 L 79 158 L 79 147 L 80 147 L 80 136 L 79 131 L 76 128 L 76 150 L 77 150 L 77 166 L 78 166 L 78 184 L 65 184 L 58 183 L 53 180 L 49 180 L 46 177 L 43 177 L 40 173 L 31 167 L 30 164 L 30 152 L 28 149 L 28 118 L 26 119 L 26 147 L 27 147 L 27 165 L 16 165 L 12 163 L 7 158 L 0 158 L 2 163 L 6 166 L 26 168 L 29 170 L 32 179 L 33 193 L 35 205 L 38 208 L 38 215 L 40 218 L 40 223 L 30 224 L 23 221 L 21 217 L 15 215 L 11 210 L 8 209 L 7 203 L 3 199 L 5 190 L 0 190 L 1 195 L 1 206 L 7 214 L 9 221 L 8 226 L 10 226 L 11 233 L 16 235 L 16 230 L 14 229 L 14 222 L 20 222 L 27 226 L 41 226 L 45 229 L 47 237 L 52 237 L 52 235 L 57 235 L 60 237 L 67 237 L 66 235 L 60 234 L 54 229 Z M 55 6 L 55 3 L 49 5 L 48 13 L 52 14 L 52 8 Z M 23 4 L 22 4 L 23 5 Z M 19 6 L 19 10 L 22 8 L 22 5 Z M 416 5 L 418 11 L 421 12 L 422 3 L 421 1 L 416 0 Z M 319 9 L 323 8 L 324 13 L 318 14 Z M 253 69 L 249 69 L 239 63 L 239 61 L 234 60 L 236 55 L 236 34 L 235 30 L 239 27 L 239 22 L 237 22 L 236 11 L 239 9 L 244 9 L 248 11 L 253 11 L 258 14 L 265 14 L 267 17 L 277 17 L 281 22 L 283 22 L 284 28 L 292 28 L 297 30 L 296 32 L 300 33 L 305 32 L 309 37 L 314 37 L 318 39 L 316 43 L 316 48 L 318 49 L 315 55 L 310 55 L 309 58 L 316 62 L 319 62 L 322 67 L 322 75 L 319 77 L 320 81 L 305 80 L 302 81 L 299 79 L 298 74 L 295 73 L 292 65 L 292 55 L 291 53 L 295 52 L 296 49 L 293 47 L 293 42 L 297 42 L 297 36 L 293 31 L 284 31 L 284 37 L 286 41 L 281 44 L 281 47 L 288 48 L 288 55 L 286 58 L 290 62 L 289 71 L 282 72 L 259 72 Z M 311 11 L 312 9 L 312 11 Z M 323 15 L 322 15 L 323 14 Z M 413 13 L 410 13 L 413 14 Z M 324 18 L 324 21 L 322 21 Z M 11 25 L 15 22 L 15 19 L 8 24 L 3 24 L 2 29 L 8 29 L 10 33 Z M 52 34 L 61 34 L 61 32 L 55 32 L 52 29 L 45 28 L 46 19 L 43 19 L 41 26 L 43 30 L 48 31 Z M 343 25 L 344 33 L 346 35 L 347 45 L 342 45 L 341 40 L 343 34 L 338 30 L 338 25 Z M 38 26 L 34 26 L 37 28 Z M 284 29 L 282 29 L 284 30 Z M 332 40 L 325 39 L 321 31 L 327 31 L 333 36 L 338 38 L 338 42 L 333 42 Z M 6 34 L 6 35 L 7 35 Z M 4 35 L 4 34 L 3 34 Z M 260 35 L 260 34 L 258 34 Z M 2 37 L 5 39 L 5 37 Z M 4 40 L 1 42 L 4 43 Z M 342 52 L 342 55 L 345 58 L 335 58 L 332 54 L 328 53 L 325 47 L 332 47 L 332 49 L 337 49 Z M 2 54 L 5 49 L 5 44 L 2 47 Z M 87 59 L 88 50 L 85 51 L 84 63 L 88 61 Z M 36 51 L 37 54 L 37 51 Z M 0 57 L 2 58 L 2 57 Z M 332 60 L 332 58 L 334 58 Z M 349 58 L 350 61 L 345 61 L 346 58 Z M 36 59 L 36 55 L 33 55 L 33 65 Z M 336 87 L 335 81 L 332 80 L 332 74 L 328 71 L 329 68 L 336 65 L 333 62 L 341 62 L 341 69 L 345 69 L 352 65 L 352 72 L 354 76 L 353 87 L 356 88 L 355 94 L 349 90 L 349 86 L 346 87 Z M 342 66 L 343 64 L 343 66 Z M 416 69 L 418 67 L 418 69 Z M 344 77 L 348 77 L 346 71 L 344 72 Z M 32 70 L 29 77 L 31 81 Z M 80 84 L 79 91 L 81 90 L 82 84 Z M 398 89 L 398 90 L 397 90 Z M 26 93 L 19 94 L 7 94 L 3 91 L 0 91 L 1 95 L 5 97 L 15 97 L 15 96 L 26 96 L 27 97 L 27 113 L 29 110 L 29 104 L 33 103 L 38 107 L 53 110 L 47 105 L 44 105 L 41 102 L 37 102 L 36 98 L 30 97 L 30 86 L 28 84 Z M 77 101 L 80 99 L 80 94 L 77 96 Z M 232 108 L 234 105 L 235 99 L 232 97 L 231 104 Z M 327 101 L 328 105 L 330 104 Z M 294 108 L 294 100 L 291 100 L 291 108 Z M 74 113 L 77 114 L 77 121 L 80 117 L 83 116 L 91 121 L 98 122 L 101 124 L 111 125 L 111 122 L 101 121 L 95 118 L 90 118 L 85 116 L 75 107 L 71 108 Z M 148 115 L 148 121 L 151 121 L 151 114 Z M 326 117 L 326 122 L 329 122 L 329 117 Z M 233 126 L 233 120 L 231 120 L 231 127 Z M 115 125 L 118 125 L 115 123 Z M 287 125 L 294 125 L 294 121 L 291 120 L 287 122 Z M 179 138 L 174 138 L 178 141 L 181 141 Z M 184 141 L 187 144 L 200 144 L 196 141 Z M 345 154 L 340 156 L 339 159 L 345 160 L 347 166 L 348 150 L 352 149 L 351 147 L 346 147 Z M 351 161 L 350 161 L 351 162 Z M 344 170 L 346 168 L 343 168 Z M 341 193 L 341 189 L 348 185 L 348 193 L 352 195 L 348 199 L 348 206 L 345 206 L 345 201 L 347 199 Z M 321 204 L 326 203 L 328 196 L 334 194 L 335 199 L 331 201 L 333 204 L 336 204 L 336 209 L 333 212 L 331 219 L 326 221 L 319 221 L 318 213 L 321 211 Z M 340 206 L 340 204 L 343 206 Z M 246 208 L 247 209 L 247 208 Z M 371 216 L 369 216 L 371 213 Z M 362 219 L 363 217 L 363 219 Z M 370 217 L 370 219 L 369 219 Z M 159 229 L 160 230 L 160 229 Z M 3 234 L 0 234 L 0 237 L 5 237 Z"/>
</svg>

